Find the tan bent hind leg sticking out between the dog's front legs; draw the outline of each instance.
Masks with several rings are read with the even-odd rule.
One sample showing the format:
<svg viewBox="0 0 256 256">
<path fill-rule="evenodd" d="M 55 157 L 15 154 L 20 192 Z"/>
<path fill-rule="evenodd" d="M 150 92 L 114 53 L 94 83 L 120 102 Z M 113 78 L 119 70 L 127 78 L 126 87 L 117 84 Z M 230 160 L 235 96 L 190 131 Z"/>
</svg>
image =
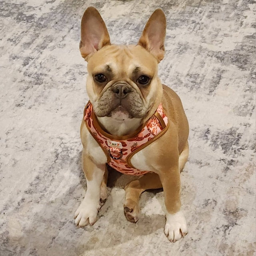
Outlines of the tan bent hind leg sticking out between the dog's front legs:
<svg viewBox="0 0 256 256">
<path fill-rule="evenodd" d="M 139 219 L 139 200 L 142 192 L 156 188 L 162 188 L 162 183 L 156 173 L 145 174 L 125 186 L 124 215 L 128 221 L 136 223 Z"/>
</svg>

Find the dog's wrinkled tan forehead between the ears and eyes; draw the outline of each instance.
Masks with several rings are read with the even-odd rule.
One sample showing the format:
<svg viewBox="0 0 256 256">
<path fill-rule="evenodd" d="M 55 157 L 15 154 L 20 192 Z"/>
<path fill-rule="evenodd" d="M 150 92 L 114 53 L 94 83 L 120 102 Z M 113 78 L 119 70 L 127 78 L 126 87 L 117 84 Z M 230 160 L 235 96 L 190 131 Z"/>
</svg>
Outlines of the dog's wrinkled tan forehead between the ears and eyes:
<svg viewBox="0 0 256 256">
<path fill-rule="evenodd" d="M 112 73 L 114 76 L 130 77 L 146 74 L 153 77 L 157 74 L 157 60 L 141 46 L 105 46 L 92 55 L 88 61 L 88 72 Z"/>
</svg>

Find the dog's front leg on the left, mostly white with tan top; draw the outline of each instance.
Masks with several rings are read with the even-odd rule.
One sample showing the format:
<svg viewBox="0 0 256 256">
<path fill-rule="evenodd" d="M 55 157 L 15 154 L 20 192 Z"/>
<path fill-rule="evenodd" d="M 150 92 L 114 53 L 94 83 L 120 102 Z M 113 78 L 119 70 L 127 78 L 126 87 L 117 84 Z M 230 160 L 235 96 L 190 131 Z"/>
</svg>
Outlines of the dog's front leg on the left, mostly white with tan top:
<svg viewBox="0 0 256 256">
<path fill-rule="evenodd" d="M 75 224 L 84 227 L 93 225 L 100 209 L 100 185 L 105 172 L 105 164 L 95 164 L 88 154 L 82 153 L 82 167 L 86 177 L 87 190 L 84 200 L 75 213 Z"/>
</svg>

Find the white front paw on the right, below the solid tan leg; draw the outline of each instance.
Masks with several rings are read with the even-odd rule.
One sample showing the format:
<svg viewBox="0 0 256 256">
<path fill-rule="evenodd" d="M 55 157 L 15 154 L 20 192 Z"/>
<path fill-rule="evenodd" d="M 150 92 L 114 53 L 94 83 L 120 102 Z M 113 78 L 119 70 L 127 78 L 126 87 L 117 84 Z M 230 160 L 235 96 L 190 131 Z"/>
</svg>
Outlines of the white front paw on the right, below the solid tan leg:
<svg viewBox="0 0 256 256">
<path fill-rule="evenodd" d="M 182 211 L 166 214 L 164 234 L 170 242 L 176 242 L 188 234 L 186 219 Z"/>
</svg>

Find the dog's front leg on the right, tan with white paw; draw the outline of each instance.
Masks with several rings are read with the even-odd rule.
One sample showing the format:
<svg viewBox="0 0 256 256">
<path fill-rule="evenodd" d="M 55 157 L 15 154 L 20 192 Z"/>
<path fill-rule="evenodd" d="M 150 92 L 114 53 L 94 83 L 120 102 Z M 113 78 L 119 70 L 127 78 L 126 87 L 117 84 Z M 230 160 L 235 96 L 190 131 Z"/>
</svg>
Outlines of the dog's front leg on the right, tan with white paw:
<svg viewBox="0 0 256 256">
<path fill-rule="evenodd" d="M 186 219 L 181 210 L 178 164 L 159 176 L 164 189 L 164 202 L 167 210 L 164 234 L 170 242 L 176 242 L 188 233 Z"/>
</svg>

